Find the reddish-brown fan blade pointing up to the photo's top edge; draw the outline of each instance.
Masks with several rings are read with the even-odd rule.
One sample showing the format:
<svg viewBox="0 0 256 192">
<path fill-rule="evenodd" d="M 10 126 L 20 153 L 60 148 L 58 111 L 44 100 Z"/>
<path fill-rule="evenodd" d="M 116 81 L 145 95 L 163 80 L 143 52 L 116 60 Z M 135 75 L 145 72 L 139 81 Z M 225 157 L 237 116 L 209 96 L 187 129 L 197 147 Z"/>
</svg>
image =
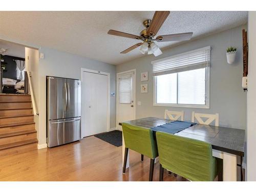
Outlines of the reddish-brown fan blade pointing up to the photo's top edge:
<svg viewBox="0 0 256 192">
<path fill-rule="evenodd" d="M 151 21 L 150 27 L 147 29 L 147 34 L 156 35 L 169 14 L 169 11 L 156 11 Z"/>
</svg>

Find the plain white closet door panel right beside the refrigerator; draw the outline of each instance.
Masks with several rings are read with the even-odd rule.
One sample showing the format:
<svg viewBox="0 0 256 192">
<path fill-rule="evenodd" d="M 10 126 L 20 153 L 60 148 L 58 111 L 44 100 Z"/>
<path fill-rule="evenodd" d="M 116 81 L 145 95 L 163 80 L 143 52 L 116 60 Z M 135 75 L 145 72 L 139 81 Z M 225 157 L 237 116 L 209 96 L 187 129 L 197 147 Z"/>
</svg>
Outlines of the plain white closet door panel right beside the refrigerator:
<svg viewBox="0 0 256 192">
<path fill-rule="evenodd" d="M 108 131 L 108 76 L 82 72 L 82 136 Z"/>
</svg>

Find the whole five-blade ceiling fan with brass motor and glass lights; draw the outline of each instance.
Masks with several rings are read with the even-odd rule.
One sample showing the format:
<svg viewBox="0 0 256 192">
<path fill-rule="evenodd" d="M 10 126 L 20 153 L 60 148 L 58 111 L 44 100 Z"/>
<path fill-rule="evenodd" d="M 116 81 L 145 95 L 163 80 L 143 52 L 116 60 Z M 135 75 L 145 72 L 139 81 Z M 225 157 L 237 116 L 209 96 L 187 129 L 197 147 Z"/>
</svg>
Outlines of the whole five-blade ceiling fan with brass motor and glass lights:
<svg viewBox="0 0 256 192">
<path fill-rule="evenodd" d="M 143 42 L 139 42 L 138 44 L 135 44 L 134 46 L 125 49 L 121 53 L 128 53 L 135 48 L 140 47 L 140 52 L 142 54 L 154 54 L 155 56 L 161 55 L 162 51 L 159 49 L 159 47 L 155 44 L 154 41 L 157 42 L 166 42 L 166 41 L 182 41 L 182 40 L 189 40 L 193 32 L 188 33 L 177 33 L 177 34 L 169 34 L 169 35 L 159 35 L 156 37 L 157 32 L 163 25 L 165 19 L 169 15 L 169 11 L 156 11 L 153 19 L 147 19 L 144 20 L 143 25 L 146 29 L 143 29 L 140 32 L 140 36 L 133 35 L 129 33 L 124 33 L 121 31 L 116 30 L 109 30 L 108 34 L 110 35 L 116 35 L 121 37 L 127 37 L 127 38 L 133 38 L 133 39 L 139 39 Z"/>
</svg>

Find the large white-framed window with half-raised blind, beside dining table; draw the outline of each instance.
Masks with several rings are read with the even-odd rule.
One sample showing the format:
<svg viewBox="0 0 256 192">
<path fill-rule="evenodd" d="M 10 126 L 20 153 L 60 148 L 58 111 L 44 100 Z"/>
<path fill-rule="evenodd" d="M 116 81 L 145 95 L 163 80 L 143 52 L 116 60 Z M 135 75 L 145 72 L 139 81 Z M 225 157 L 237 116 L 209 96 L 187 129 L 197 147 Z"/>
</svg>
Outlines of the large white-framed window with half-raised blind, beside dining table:
<svg viewBox="0 0 256 192">
<path fill-rule="evenodd" d="M 154 105 L 209 108 L 210 47 L 152 61 Z"/>
</svg>

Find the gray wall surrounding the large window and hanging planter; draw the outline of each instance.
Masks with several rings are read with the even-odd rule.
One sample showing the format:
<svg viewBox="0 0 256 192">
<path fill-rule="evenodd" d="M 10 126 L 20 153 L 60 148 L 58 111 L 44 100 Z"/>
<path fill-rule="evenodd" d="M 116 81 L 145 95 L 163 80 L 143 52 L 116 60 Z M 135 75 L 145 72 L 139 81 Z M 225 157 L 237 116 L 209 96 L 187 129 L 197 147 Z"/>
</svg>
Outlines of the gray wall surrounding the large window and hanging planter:
<svg viewBox="0 0 256 192">
<path fill-rule="evenodd" d="M 154 57 L 147 55 L 117 66 L 117 73 L 136 69 L 136 118 L 147 116 L 164 117 L 164 110 L 184 111 L 185 120 L 191 120 L 191 112 L 219 113 L 220 125 L 245 129 L 246 128 L 246 92 L 242 89 L 243 58 L 242 58 L 242 29 L 247 25 L 230 29 L 218 34 L 206 36 L 185 44 L 163 50 L 163 54 Z M 210 109 L 170 108 L 153 106 L 153 76 L 151 61 L 183 53 L 186 51 L 211 46 L 210 60 Z M 236 61 L 229 65 L 226 60 L 226 48 L 238 48 Z M 138 50 L 137 50 L 138 51 Z M 140 73 L 148 71 L 148 81 L 140 81 Z M 140 93 L 140 84 L 148 83 L 148 93 Z M 137 103 L 136 103 L 137 104 Z"/>
</svg>

